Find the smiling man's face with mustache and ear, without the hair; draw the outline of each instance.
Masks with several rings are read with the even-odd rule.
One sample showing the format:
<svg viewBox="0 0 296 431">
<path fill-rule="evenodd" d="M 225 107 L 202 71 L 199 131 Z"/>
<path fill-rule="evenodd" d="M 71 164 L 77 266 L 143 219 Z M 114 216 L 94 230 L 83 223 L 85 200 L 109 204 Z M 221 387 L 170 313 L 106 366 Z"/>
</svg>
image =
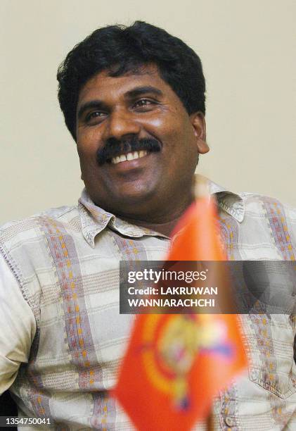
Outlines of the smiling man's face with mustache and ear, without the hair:
<svg viewBox="0 0 296 431">
<path fill-rule="evenodd" d="M 139 220 L 186 208 L 198 153 L 208 151 L 202 115 L 188 115 L 153 65 L 86 82 L 77 104 L 77 151 L 91 199 Z M 136 150 L 136 151 L 135 151 Z"/>
</svg>

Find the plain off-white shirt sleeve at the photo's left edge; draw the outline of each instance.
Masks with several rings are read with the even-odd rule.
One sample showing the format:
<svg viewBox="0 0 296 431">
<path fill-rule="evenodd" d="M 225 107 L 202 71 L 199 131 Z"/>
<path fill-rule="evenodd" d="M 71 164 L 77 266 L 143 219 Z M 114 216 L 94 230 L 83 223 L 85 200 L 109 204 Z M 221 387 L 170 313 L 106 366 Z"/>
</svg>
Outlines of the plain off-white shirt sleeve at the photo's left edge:
<svg viewBox="0 0 296 431">
<path fill-rule="evenodd" d="M 36 332 L 34 314 L 4 258 L 0 256 L 0 394 L 27 362 Z"/>
</svg>

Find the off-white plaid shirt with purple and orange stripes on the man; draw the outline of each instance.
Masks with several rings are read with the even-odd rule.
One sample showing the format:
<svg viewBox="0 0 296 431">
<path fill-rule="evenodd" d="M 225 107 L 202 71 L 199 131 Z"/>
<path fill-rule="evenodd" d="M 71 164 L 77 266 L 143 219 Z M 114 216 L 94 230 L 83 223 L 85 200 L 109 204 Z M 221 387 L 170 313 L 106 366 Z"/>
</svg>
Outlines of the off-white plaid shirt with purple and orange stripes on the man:
<svg viewBox="0 0 296 431">
<path fill-rule="evenodd" d="M 296 211 L 211 189 L 230 259 L 295 260 Z M 85 191 L 78 206 L 1 228 L 0 393 L 11 387 L 20 417 L 51 418 L 46 428 L 55 430 L 133 429 L 107 392 L 133 320 L 119 313 L 119 262 L 161 260 L 168 246 L 169 238 L 103 211 Z M 296 430 L 295 316 L 240 319 L 250 368 L 214 400 L 214 429 Z"/>
</svg>

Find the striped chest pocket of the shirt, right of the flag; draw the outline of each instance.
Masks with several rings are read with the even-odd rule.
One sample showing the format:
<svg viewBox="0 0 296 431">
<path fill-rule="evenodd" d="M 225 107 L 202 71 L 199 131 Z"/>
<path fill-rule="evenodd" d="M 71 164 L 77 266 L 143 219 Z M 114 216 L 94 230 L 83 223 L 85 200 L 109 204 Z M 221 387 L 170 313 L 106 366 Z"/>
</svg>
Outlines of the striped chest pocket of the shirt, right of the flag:
<svg viewBox="0 0 296 431">
<path fill-rule="evenodd" d="M 294 322 L 283 314 L 252 314 L 243 318 L 250 380 L 283 399 L 288 398 L 296 392 Z"/>
</svg>

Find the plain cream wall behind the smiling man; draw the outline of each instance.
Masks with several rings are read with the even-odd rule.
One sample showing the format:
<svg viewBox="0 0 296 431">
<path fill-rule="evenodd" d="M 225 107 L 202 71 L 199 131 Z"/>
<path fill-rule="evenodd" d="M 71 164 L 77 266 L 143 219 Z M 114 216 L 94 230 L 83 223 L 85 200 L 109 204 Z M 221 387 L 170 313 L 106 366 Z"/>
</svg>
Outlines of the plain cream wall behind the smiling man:
<svg viewBox="0 0 296 431">
<path fill-rule="evenodd" d="M 0 223 L 77 202 L 83 183 L 56 70 L 91 31 L 134 20 L 164 27 L 202 59 L 211 151 L 198 171 L 296 205 L 295 0 L 0 0 L 0 14 Z"/>
</svg>

